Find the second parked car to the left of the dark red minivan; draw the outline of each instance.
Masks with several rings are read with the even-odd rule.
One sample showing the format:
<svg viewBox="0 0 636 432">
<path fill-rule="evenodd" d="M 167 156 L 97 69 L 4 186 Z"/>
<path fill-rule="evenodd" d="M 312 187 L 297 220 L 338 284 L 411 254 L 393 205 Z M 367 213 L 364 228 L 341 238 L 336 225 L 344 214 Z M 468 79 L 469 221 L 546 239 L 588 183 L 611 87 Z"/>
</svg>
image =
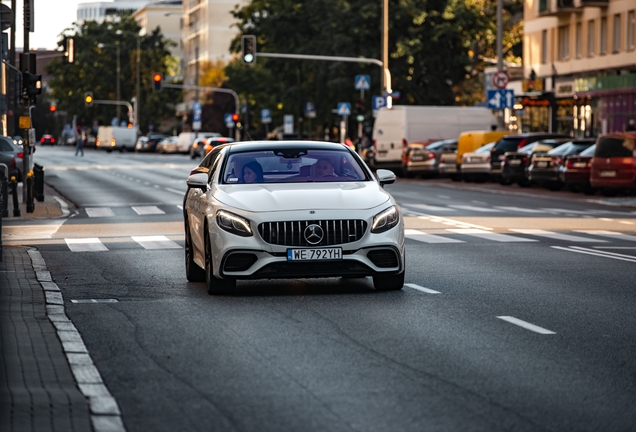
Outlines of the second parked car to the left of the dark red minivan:
<svg viewBox="0 0 636 432">
<path fill-rule="evenodd" d="M 528 180 L 546 186 L 550 190 L 563 187 L 560 170 L 569 155 L 576 155 L 594 145 L 594 139 L 578 139 L 561 144 L 545 154 L 536 154 L 530 160 Z"/>
</svg>

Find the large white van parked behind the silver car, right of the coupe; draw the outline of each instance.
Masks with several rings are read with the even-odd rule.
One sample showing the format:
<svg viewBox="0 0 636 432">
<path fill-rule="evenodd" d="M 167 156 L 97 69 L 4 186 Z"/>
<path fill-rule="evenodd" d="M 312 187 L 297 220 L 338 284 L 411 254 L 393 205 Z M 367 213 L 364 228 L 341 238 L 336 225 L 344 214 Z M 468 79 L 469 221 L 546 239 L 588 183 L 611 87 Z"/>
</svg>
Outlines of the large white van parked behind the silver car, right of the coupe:
<svg viewBox="0 0 636 432">
<path fill-rule="evenodd" d="M 412 142 L 457 139 L 470 130 L 489 130 L 497 124 L 485 107 L 410 106 L 383 108 L 373 125 L 372 168 L 394 168 L 400 173 L 402 153 Z"/>
</svg>

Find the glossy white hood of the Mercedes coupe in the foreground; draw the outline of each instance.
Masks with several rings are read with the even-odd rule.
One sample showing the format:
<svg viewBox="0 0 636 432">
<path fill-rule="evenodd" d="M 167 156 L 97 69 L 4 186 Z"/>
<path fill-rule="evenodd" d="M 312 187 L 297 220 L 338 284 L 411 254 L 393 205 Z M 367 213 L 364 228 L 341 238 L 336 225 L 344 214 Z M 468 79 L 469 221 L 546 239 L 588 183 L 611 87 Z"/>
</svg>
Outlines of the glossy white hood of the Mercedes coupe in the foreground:
<svg viewBox="0 0 636 432">
<path fill-rule="evenodd" d="M 215 198 L 241 210 L 363 210 L 391 196 L 376 182 L 217 185 Z"/>
</svg>

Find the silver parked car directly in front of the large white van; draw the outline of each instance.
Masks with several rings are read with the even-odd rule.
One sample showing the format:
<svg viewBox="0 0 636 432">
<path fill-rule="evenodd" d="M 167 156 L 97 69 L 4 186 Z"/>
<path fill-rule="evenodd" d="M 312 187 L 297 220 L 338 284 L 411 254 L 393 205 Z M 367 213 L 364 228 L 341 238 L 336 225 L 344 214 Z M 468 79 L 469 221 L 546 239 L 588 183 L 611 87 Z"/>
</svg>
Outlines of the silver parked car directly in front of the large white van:
<svg viewBox="0 0 636 432">
<path fill-rule="evenodd" d="M 457 150 L 457 140 L 449 139 L 433 143 L 410 143 L 402 157 L 402 172 L 407 177 L 438 175 L 442 154 Z"/>
</svg>

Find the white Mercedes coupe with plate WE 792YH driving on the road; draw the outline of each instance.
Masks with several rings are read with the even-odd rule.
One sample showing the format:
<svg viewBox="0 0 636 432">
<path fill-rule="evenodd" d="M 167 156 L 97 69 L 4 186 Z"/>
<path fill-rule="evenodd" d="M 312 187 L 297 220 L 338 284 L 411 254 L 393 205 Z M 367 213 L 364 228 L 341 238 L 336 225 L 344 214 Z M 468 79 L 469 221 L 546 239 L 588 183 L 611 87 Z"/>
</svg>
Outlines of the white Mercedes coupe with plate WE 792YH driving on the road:
<svg viewBox="0 0 636 432">
<path fill-rule="evenodd" d="M 186 276 L 210 294 L 237 279 L 373 277 L 404 285 L 404 222 L 377 178 L 337 143 L 253 141 L 215 148 L 187 179 Z"/>
</svg>

